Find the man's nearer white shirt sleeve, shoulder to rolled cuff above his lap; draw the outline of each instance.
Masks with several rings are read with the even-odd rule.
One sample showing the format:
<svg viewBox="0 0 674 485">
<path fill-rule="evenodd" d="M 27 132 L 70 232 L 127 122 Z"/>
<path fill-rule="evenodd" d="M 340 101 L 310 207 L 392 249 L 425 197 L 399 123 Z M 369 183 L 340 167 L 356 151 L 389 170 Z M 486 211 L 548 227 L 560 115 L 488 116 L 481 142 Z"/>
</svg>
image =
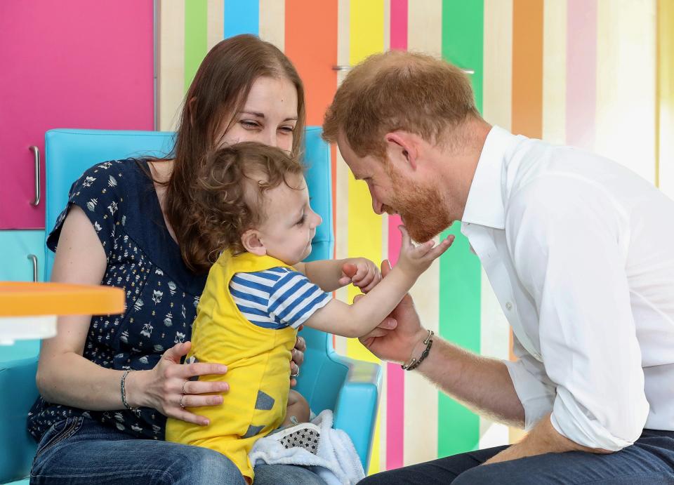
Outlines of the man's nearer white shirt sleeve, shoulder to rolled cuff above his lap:
<svg viewBox="0 0 674 485">
<path fill-rule="evenodd" d="M 627 215 L 589 180 L 546 175 L 510 199 L 505 226 L 517 276 L 538 311 L 555 430 L 590 448 L 633 444 L 649 404 L 625 269 Z M 538 401 L 540 385 L 524 382 L 527 361 L 508 369 L 515 389 L 531 386 L 524 398 Z"/>
</svg>

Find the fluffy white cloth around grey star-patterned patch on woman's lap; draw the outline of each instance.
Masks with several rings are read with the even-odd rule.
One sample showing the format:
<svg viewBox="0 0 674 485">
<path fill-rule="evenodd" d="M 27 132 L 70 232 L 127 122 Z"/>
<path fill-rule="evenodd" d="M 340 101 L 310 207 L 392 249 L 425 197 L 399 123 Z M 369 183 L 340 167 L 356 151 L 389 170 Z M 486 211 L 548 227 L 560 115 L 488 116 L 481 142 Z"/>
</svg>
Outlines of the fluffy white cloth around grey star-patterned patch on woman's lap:
<svg viewBox="0 0 674 485">
<path fill-rule="evenodd" d="M 357 484 L 365 478 L 363 465 L 348 434 L 332 429 L 332 419 L 332 411 L 326 409 L 312 420 L 321 432 L 317 455 L 303 448 L 286 449 L 271 434 L 253 445 L 249 454 L 251 463 L 304 465 L 328 485 Z"/>
</svg>

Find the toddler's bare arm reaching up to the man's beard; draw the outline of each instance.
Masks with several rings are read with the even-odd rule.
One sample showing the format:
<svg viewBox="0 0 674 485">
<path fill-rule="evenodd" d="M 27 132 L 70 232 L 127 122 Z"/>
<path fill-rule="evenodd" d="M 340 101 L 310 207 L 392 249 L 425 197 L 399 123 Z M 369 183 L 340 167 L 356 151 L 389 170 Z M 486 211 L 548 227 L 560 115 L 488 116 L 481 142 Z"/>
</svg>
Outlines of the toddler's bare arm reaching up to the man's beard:
<svg viewBox="0 0 674 485">
<path fill-rule="evenodd" d="M 454 236 L 435 246 L 428 241 L 414 246 L 407 230 L 400 226 L 402 246 L 397 265 L 369 293 L 353 305 L 339 300 L 317 310 L 305 325 L 344 337 L 361 337 L 375 328 L 396 307 L 416 279 L 440 257 L 454 241 Z"/>
</svg>

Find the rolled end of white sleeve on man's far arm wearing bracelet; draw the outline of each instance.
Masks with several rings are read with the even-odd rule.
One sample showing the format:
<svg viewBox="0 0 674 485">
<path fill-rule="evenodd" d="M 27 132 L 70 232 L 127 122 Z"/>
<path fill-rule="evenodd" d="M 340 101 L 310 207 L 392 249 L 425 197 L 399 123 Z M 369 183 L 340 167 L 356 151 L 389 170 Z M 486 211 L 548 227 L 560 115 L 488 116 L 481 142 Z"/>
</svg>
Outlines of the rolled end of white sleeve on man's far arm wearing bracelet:
<svg viewBox="0 0 674 485">
<path fill-rule="evenodd" d="M 513 353 L 518 359 L 503 361 L 503 364 L 508 368 L 517 397 L 522 402 L 524 429 L 528 431 L 553 411 L 555 386 L 548 379 L 543 364 L 524 350 L 517 337 L 513 337 Z"/>
</svg>

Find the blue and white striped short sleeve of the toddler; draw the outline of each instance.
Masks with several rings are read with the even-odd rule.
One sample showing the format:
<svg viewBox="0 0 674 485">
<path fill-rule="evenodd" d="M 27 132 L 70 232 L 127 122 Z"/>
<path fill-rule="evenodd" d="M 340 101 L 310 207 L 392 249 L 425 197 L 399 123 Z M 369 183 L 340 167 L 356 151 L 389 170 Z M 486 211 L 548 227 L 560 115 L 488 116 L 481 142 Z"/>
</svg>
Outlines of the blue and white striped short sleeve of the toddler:
<svg viewBox="0 0 674 485">
<path fill-rule="evenodd" d="M 285 269 L 270 292 L 267 311 L 279 326 L 297 328 L 331 299 L 304 274 Z"/>
</svg>

